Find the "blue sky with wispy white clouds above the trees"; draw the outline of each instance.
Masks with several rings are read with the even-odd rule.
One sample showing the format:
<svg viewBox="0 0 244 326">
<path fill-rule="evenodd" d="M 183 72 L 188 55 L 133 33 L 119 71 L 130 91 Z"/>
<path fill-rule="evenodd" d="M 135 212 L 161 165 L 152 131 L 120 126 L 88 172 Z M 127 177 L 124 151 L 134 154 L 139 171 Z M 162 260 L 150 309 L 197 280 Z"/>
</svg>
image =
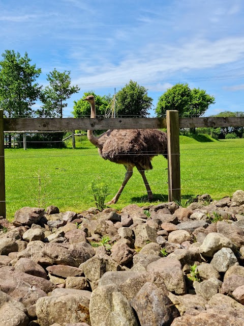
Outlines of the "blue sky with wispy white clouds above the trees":
<svg viewBox="0 0 244 326">
<path fill-rule="evenodd" d="M 241 0 L 0 0 L 0 53 L 26 51 L 40 85 L 70 70 L 80 92 L 66 116 L 83 92 L 113 94 L 130 79 L 155 106 L 188 83 L 215 96 L 206 115 L 244 111 L 243 17 Z"/>
</svg>

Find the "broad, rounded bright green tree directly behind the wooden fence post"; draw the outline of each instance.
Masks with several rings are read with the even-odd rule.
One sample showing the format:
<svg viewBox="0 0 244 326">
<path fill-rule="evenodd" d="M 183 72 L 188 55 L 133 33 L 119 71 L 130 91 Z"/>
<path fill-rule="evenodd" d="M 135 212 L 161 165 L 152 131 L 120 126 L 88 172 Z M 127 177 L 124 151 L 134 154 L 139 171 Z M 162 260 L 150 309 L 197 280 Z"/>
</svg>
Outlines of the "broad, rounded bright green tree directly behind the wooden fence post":
<svg viewBox="0 0 244 326">
<path fill-rule="evenodd" d="M 177 110 L 180 117 L 200 117 L 214 103 L 214 96 L 206 91 L 199 88 L 191 90 L 188 84 L 176 84 L 160 96 L 156 113 L 158 117 L 165 117 L 166 110 Z"/>
</svg>

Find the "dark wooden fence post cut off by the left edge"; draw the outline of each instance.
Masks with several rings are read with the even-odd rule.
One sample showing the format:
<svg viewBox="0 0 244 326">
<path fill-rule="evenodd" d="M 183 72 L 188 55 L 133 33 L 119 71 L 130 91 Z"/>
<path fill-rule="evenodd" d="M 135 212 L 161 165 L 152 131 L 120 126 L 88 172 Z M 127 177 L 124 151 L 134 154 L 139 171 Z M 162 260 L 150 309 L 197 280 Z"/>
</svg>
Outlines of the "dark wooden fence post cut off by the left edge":
<svg viewBox="0 0 244 326">
<path fill-rule="evenodd" d="M 0 110 L 0 216 L 6 218 L 3 110 Z"/>
</svg>

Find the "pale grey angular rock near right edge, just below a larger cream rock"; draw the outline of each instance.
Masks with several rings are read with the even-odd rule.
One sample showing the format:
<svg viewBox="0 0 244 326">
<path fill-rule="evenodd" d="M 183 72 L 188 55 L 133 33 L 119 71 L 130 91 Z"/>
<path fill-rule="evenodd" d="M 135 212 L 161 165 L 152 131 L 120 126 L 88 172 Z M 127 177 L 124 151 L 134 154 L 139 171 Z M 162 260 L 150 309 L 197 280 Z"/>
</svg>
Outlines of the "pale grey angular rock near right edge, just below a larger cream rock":
<svg viewBox="0 0 244 326">
<path fill-rule="evenodd" d="M 226 272 L 232 265 L 239 265 L 237 258 L 230 248 L 222 248 L 217 251 L 210 262 L 219 272 Z"/>
</svg>

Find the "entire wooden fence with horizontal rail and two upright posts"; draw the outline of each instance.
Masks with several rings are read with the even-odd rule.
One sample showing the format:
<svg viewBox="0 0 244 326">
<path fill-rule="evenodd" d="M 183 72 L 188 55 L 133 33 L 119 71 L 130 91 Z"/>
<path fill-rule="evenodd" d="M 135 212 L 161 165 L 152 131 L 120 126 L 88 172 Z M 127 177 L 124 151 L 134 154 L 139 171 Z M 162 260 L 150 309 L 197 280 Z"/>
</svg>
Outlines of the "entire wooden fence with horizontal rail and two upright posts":
<svg viewBox="0 0 244 326">
<path fill-rule="evenodd" d="M 167 128 L 168 200 L 180 201 L 179 128 L 242 127 L 244 117 L 179 118 L 167 111 L 166 118 L 3 118 L 0 110 L 0 216 L 6 216 L 4 132 Z"/>
</svg>

